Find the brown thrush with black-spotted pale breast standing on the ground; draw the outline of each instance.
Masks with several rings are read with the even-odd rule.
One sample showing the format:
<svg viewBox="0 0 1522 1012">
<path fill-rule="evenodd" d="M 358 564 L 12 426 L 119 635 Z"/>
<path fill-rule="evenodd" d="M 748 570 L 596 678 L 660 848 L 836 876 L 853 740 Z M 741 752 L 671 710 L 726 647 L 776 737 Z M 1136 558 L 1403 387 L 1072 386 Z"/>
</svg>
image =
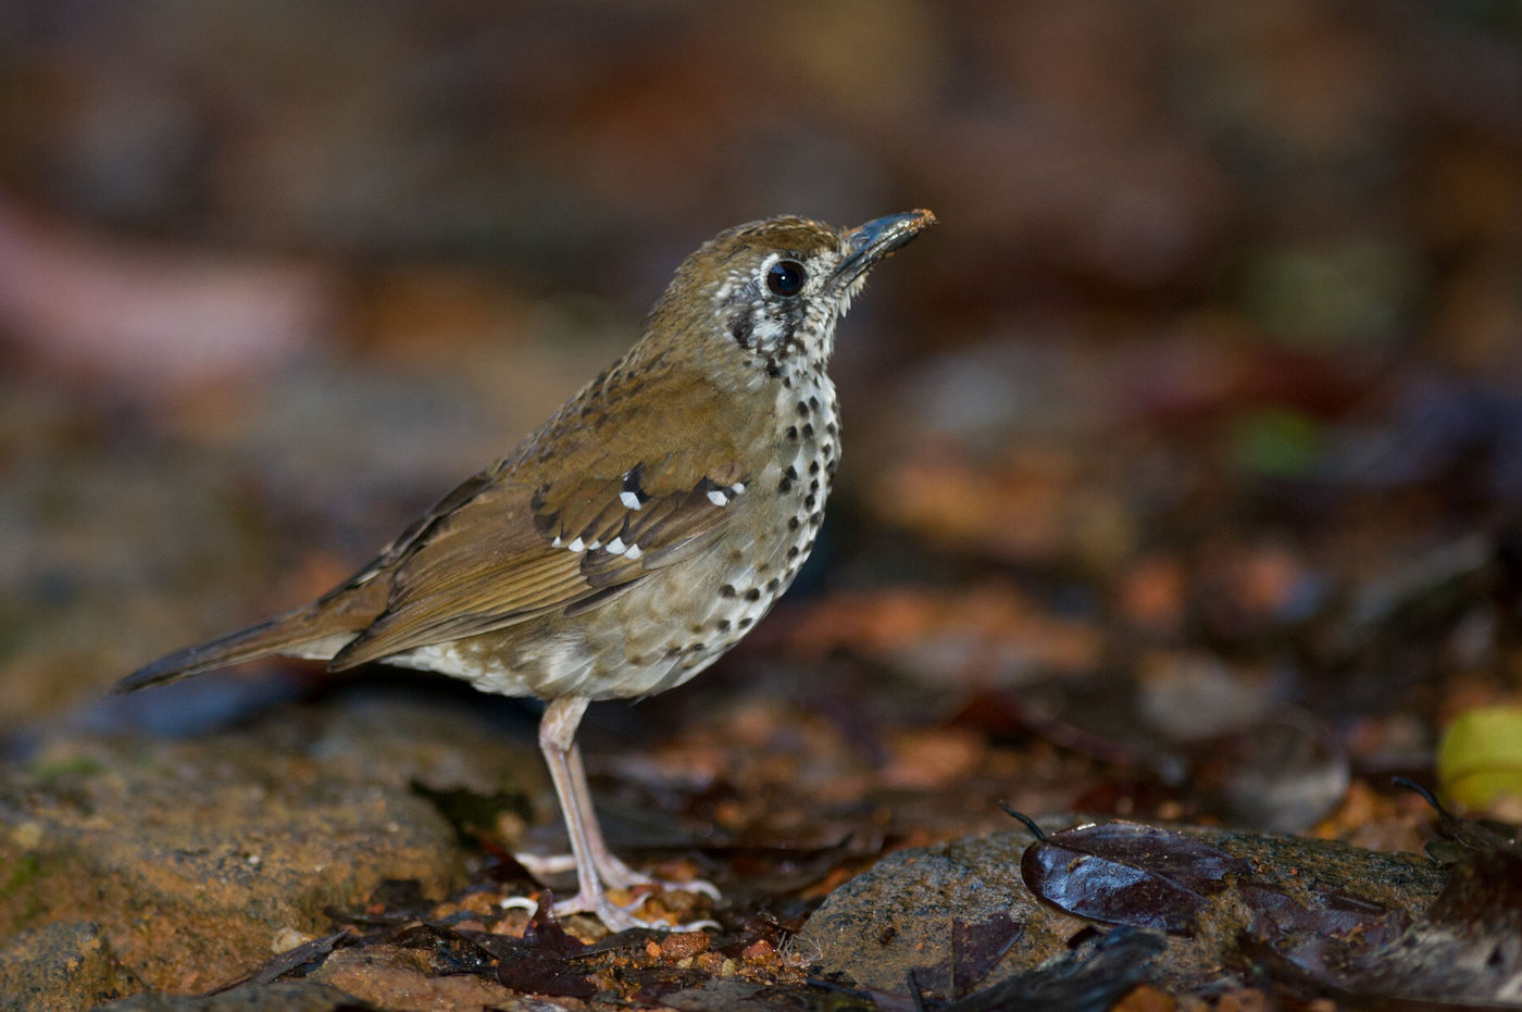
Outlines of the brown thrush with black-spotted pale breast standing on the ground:
<svg viewBox="0 0 1522 1012">
<path fill-rule="evenodd" d="M 837 230 L 773 218 L 693 253 L 644 335 L 505 458 L 317 601 L 161 657 L 116 691 L 269 654 L 426 668 L 548 702 L 539 744 L 580 889 L 556 915 L 639 924 L 651 880 L 603 842 L 586 705 L 682 685 L 735 645 L 814 546 L 840 447 L 836 323 L 930 212 Z"/>
</svg>

